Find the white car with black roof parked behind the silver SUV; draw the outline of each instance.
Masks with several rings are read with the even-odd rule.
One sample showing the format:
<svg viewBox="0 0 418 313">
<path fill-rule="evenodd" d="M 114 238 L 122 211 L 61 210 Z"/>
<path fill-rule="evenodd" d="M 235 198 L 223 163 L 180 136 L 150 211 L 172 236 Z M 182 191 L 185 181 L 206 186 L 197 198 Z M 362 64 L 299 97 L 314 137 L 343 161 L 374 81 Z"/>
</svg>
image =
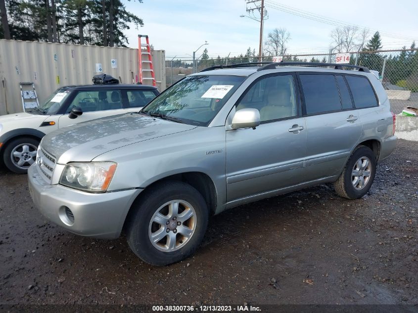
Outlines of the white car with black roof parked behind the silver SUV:
<svg viewBox="0 0 418 313">
<path fill-rule="evenodd" d="M 46 134 L 89 120 L 139 111 L 159 94 L 144 85 L 85 85 L 55 90 L 48 100 L 24 113 L 0 116 L 0 160 L 12 172 L 27 173 Z"/>
</svg>

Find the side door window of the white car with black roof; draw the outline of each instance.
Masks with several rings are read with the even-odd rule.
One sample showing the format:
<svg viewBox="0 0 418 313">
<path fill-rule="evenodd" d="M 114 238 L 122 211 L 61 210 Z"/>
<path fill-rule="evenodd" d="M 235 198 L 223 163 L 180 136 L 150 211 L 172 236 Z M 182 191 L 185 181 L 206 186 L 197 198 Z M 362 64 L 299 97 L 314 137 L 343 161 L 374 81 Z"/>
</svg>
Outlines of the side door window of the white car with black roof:
<svg viewBox="0 0 418 313">
<path fill-rule="evenodd" d="M 73 107 L 80 107 L 83 112 L 122 109 L 119 90 L 83 90 L 79 91 L 67 108 L 69 113 Z"/>
</svg>

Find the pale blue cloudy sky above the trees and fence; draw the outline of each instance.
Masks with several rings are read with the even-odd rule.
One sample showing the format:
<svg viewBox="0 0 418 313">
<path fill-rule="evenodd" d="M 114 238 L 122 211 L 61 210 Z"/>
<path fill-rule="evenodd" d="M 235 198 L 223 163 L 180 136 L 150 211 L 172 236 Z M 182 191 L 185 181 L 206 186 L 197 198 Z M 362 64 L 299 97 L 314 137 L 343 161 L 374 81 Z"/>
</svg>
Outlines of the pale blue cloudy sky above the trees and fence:
<svg viewBox="0 0 418 313">
<path fill-rule="evenodd" d="M 143 19 L 138 30 L 134 25 L 125 34 L 130 47 L 138 47 L 138 34 L 149 36 L 155 49 L 165 50 L 166 57 L 189 58 L 204 48 L 210 57 L 245 54 L 248 47 L 258 51 L 260 23 L 248 17 L 247 0 L 143 0 L 124 1 L 132 13 Z M 399 3 L 399 5 L 396 5 Z M 268 19 L 264 24 L 264 40 L 275 28 L 286 28 L 291 39 L 287 43 L 291 54 L 326 53 L 329 37 L 340 23 L 357 25 L 370 30 L 370 36 L 381 33 L 383 49 L 418 45 L 418 1 L 404 0 L 265 0 Z M 309 17 L 321 15 L 320 21 L 284 12 L 296 10 Z M 301 12 L 300 10 L 304 11 Z M 351 12 L 351 13 L 350 13 Z M 259 16 L 259 14 L 258 14 Z"/>
</svg>

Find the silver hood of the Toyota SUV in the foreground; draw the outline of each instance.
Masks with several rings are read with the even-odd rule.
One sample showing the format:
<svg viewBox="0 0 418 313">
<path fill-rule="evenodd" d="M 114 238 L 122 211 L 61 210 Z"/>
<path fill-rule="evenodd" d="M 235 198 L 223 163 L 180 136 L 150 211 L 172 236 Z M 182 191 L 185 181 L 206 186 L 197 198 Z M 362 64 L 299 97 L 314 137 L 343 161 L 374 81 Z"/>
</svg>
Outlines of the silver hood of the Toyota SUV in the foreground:
<svg viewBox="0 0 418 313">
<path fill-rule="evenodd" d="M 194 128 L 196 126 L 127 113 L 64 127 L 47 134 L 41 146 L 57 163 L 86 162 L 129 144 Z"/>
</svg>

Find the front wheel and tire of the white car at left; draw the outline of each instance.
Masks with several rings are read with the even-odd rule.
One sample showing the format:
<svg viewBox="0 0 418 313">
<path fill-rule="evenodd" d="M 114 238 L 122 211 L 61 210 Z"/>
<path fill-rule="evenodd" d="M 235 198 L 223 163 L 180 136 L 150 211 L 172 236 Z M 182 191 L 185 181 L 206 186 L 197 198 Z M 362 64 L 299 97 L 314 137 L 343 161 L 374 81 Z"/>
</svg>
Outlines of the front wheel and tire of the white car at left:
<svg viewBox="0 0 418 313">
<path fill-rule="evenodd" d="M 3 150 L 4 165 L 16 174 L 28 173 L 28 168 L 36 161 L 39 140 L 20 137 L 7 143 Z"/>
</svg>

